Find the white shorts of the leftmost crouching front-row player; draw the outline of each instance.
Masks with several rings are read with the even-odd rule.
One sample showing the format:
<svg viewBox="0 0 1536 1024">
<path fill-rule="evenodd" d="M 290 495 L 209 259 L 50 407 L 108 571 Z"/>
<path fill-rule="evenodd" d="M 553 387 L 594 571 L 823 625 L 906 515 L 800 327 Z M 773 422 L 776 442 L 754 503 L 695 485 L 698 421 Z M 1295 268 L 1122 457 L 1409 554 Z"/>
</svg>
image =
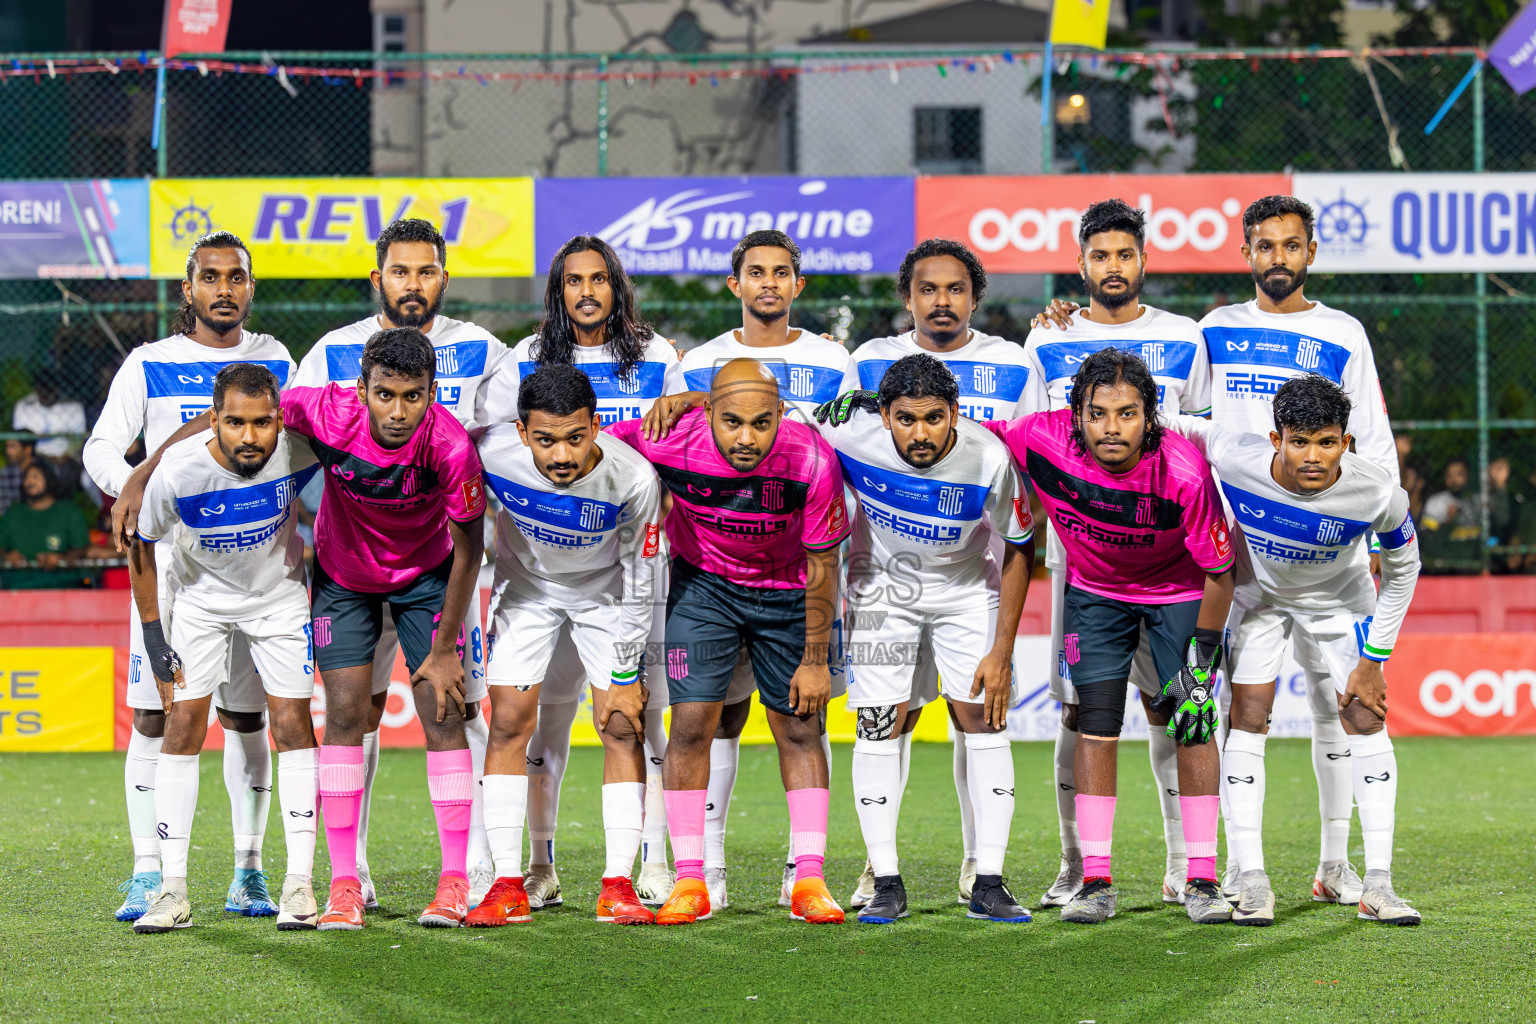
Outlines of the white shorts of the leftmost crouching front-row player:
<svg viewBox="0 0 1536 1024">
<path fill-rule="evenodd" d="M 207 611 L 186 597 L 175 602 L 170 646 L 181 656 L 186 686 L 174 691 L 175 700 L 198 700 L 230 688 L 229 660 L 237 637 L 247 645 L 247 657 L 260 672 L 261 686 L 272 697 L 309 700 L 315 694 L 315 656 L 309 631 L 309 596 L 304 585 L 284 580 L 266 602 L 264 614 L 230 619 Z M 215 699 L 229 711 L 223 695 Z"/>
</svg>

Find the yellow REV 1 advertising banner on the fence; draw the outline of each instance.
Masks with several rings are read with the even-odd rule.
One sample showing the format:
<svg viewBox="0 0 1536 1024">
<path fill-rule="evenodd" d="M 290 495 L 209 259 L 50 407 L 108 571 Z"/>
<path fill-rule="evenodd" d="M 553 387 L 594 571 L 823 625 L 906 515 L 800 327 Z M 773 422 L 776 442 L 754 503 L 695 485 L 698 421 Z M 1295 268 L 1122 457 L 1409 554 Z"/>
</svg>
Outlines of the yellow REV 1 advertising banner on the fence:
<svg viewBox="0 0 1536 1024">
<path fill-rule="evenodd" d="M 187 250 L 227 230 L 261 278 L 362 278 L 373 239 L 421 216 L 449 243 L 449 273 L 533 275 L 533 178 L 160 178 L 149 183 L 149 270 L 186 275 Z M 260 295 L 260 292 L 258 292 Z"/>
</svg>

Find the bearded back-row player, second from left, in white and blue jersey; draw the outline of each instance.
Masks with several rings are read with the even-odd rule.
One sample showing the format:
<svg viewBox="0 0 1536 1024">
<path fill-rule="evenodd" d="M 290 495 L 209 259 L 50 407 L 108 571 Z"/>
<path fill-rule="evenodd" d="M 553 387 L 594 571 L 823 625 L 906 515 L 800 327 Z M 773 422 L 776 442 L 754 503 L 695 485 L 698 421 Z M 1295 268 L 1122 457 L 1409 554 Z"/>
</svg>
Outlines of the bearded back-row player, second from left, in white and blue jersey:
<svg viewBox="0 0 1536 1024">
<path fill-rule="evenodd" d="M 338 327 L 304 353 L 298 365 L 300 387 L 336 384 L 344 390 L 358 384 L 362 345 L 381 330 L 415 327 L 427 336 L 438 359 L 436 404 L 453 413 L 465 427 L 493 422 L 487 413 L 490 382 L 507 365 L 511 352 L 501 338 L 479 324 L 442 315 L 442 299 L 449 293 L 449 247 L 432 221 L 406 218 L 389 224 L 375 241 L 378 269 L 369 273 L 378 293 L 379 312 L 355 324 Z M 459 637 L 464 652 L 465 709 L 476 711 L 485 700 L 485 645 L 481 631 L 479 588 L 470 597 Z M 358 812 L 358 881 L 362 883 L 364 906 L 373 909 L 378 898 L 369 872 L 369 806 L 373 797 L 373 775 L 379 765 L 379 722 L 389 700 L 390 674 L 395 669 L 395 617 L 386 608 L 384 631 L 373 656 L 373 711 L 362 734 L 364 788 Z M 475 777 L 485 763 L 485 718 L 476 714 L 464 723 L 470 742 Z M 470 906 L 490 887 L 490 851 L 482 826 L 482 794 L 475 788 L 470 806 L 468 878 Z"/>
</svg>

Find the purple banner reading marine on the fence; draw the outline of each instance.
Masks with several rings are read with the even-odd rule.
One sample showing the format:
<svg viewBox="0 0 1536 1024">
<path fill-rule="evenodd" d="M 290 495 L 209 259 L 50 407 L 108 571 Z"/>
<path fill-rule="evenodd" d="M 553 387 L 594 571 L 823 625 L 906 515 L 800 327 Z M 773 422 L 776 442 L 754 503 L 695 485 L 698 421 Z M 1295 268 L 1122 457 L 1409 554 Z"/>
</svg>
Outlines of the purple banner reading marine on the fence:
<svg viewBox="0 0 1536 1024">
<path fill-rule="evenodd" d="M 912 247 L 911 178 L 539 178 L 535 259 L 599 235 L 630 273 L 730 273 L 742 235 L 776 227 L 805 273 L 894 273 Z"/>
</svg>

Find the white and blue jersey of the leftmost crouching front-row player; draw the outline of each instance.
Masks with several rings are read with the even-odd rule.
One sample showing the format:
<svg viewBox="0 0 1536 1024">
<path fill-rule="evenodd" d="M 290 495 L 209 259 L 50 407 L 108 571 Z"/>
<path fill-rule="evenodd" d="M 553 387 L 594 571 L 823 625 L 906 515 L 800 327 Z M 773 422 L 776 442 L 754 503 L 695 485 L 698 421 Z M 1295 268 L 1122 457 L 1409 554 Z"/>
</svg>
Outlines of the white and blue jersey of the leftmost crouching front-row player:
<svg viewBox="0 0 1536 1024">
<path fill-rule="evenodd" d="M 315 454 L 284 431 L 261 473 L 246 479 L 220 465 L 209 442 L 200 433 L 170 445 L 138 513 L 140 539 L 172 542 L 166 582 L 175 600 L 230 622 L 263 617 L 281 591 L 303 600 L 293 502 L 315 476 Z"/>
</svg>

